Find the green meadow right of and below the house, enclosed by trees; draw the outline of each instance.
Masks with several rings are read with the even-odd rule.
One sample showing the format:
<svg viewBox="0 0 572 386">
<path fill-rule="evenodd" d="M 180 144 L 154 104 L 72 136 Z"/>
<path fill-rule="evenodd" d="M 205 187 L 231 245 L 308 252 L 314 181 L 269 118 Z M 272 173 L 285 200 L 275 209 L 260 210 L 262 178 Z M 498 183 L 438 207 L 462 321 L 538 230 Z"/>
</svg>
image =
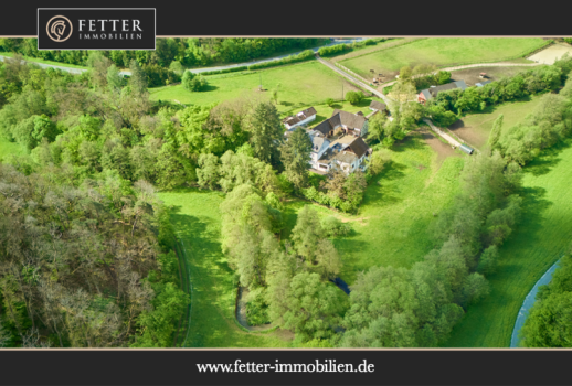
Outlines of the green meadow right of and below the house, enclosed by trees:
<svg viewBox="0 0 572 386">
<path fill-rule="evenodd" d="M 320 216 L 336 215 L 350 222 L 353 234 L 335 238 L 342 258 L 340 277 L 352 283 L 371 266 L 410 267 L 433 249 L 430 224 L 458 190 L 464 160 L 439 160 L 423 137 L 414 133 L 392 151 L 392 163 L 369 185 L 357 215 L 318 207 Z M 293 202 L 285 216 L 288 229 L 305 202 Z"/>
</svg>

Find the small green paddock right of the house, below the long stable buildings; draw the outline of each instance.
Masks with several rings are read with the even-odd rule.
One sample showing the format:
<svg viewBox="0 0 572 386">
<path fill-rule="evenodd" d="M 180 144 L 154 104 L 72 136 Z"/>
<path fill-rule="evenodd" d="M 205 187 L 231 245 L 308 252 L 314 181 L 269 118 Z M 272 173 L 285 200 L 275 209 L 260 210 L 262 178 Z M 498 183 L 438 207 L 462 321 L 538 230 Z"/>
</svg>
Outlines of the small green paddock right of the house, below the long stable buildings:
<svg viewBox="0 0 572 386">
<path fill-rule="evenodd" d="M 541 96 L 533 95 L 516 101 L 501 105 L 487 106 L 483 111 L 470 114 L 457 120 L 448 127 L 453 133 L 467 143 L 484 150 L 488 140 L 492 124 L 499 115 L 504 114 L 502 128 L 508 129 L 522 121 L 529 112 L 540 103 Z"/>
</svg>

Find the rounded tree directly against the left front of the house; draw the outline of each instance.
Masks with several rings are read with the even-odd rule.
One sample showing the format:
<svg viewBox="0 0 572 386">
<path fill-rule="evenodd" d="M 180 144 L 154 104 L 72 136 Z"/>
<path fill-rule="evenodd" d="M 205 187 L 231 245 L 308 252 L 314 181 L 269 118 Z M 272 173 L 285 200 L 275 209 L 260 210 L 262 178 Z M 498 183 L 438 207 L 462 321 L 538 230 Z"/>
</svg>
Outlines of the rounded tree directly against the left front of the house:
<svg viewBox="0 0 572 386">
<path fill-rule="evenodd" d="M 279 149 L 286 176 L 296 189 L 305 187 L 308 184 L 311 147 L 313 142 L 306 130 L 297 127 Z"/>
</svg>

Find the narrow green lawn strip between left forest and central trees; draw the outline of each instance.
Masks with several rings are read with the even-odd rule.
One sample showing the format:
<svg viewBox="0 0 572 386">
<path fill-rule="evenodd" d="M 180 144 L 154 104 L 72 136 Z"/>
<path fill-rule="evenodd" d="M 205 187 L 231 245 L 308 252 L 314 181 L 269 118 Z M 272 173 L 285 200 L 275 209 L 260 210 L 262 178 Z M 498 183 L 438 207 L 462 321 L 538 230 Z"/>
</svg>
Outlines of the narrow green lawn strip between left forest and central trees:
<svg viewBox="0 0 572 386">
<path fill-rule="evenodd" d="M 172 205 L 171 222 L 183 244 L 191 271 L 189 347 L 287 347 L 280 332 L 248 333 L 234 322 L 236 282 L 221 251 L 221 215 L 224 195 L 197 189 L 163 192 Z"/>
</svg>

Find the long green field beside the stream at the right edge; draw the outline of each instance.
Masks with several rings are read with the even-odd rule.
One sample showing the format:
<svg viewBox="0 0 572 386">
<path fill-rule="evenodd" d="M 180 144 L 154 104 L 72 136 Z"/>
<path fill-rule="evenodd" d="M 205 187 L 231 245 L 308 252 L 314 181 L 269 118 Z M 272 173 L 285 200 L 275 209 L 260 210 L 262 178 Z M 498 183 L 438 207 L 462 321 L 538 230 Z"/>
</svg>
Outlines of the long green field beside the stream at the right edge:
<svg viewBox="0 0 572 386">
<path fill-rule="evenodd" d="M 537 280 L 572 242 L 572 141 L 551 149 L 525 169 L 525 214 L 499 249 L 490 296 L 468 309 L 447 347 L 508 347 L 518 311 Z"/>
</svg>

